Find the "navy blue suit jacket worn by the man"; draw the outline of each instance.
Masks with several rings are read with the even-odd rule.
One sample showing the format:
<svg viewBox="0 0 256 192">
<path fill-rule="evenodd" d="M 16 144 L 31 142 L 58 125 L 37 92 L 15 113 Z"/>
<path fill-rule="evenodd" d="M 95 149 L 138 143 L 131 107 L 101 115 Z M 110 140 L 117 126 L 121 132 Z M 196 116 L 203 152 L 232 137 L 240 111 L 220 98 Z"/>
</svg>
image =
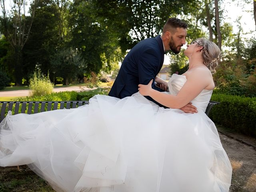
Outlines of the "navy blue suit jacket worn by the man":
<svg viewBox="0 0 256 192">
<path fill-rule="evenodd" d="M 160 35 L 142 40 L 124 58 L 108 95 L 120 99 L 132 96 L 132 94 L 138 92 L 138 84 L 146 85 L 152 79 L 152 88 L 162 91 L 154 86 L 154 81 L 162 68 L 163 62 L 164 46 Z M 146 98 L 157 103 L 148 96 Z"/>
</svg>

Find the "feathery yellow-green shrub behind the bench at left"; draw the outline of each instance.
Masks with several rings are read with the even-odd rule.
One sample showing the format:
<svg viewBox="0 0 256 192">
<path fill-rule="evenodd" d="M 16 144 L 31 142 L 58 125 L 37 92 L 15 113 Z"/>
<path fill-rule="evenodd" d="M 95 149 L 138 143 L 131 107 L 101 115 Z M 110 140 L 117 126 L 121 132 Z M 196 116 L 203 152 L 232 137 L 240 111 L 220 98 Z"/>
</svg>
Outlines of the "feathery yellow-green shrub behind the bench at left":
<svg viewBox="0 0 256 192">
<path fill-rule="evenodd" d="M 41 70 L 36 70 L 33 77 L 30 79 L 30 89 L 33 96 L 43 96 L 51 94 L 54 84 L 51 83 L 49 74 L 45 76 Z"/>
</svg>

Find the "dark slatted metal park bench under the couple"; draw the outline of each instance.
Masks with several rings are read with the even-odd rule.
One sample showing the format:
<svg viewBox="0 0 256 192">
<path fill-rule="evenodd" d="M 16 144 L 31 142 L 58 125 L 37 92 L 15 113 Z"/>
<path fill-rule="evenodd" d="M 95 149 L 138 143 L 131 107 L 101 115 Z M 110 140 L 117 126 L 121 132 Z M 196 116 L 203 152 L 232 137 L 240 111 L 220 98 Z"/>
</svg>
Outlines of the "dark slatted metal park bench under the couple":
<svg viewBox="0 0 256 192">
<path fill-rule="evenodd" d="M 219 102 L 210 101 L 206 108 L 206 115 L 208 116 L 210 110 L 215 104 Z M 8 111 L 14 111 L 13 114 L 26 113 L 34 114 L 38 112 L 57 110 L 57 109 L 70 109 L 89 104 L 88 101 L 0 101 L 0 122 L 7 115 Z"/>
</svg>

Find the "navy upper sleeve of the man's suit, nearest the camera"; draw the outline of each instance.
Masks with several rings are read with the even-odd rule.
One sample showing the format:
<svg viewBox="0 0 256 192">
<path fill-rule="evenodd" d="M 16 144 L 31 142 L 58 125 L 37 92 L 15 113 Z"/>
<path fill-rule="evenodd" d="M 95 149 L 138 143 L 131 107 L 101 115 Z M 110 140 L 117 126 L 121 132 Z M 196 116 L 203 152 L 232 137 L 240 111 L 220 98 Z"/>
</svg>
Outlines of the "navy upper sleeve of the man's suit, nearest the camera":
<svg viewBox="0 0 256 192">
<path fill-rule="evenodd" d="M 138 76 L 140 84 L 148 84 L 150 80 L 155 81 L 159 68 L 159 58 L 154 49 L 145 50 L 138 61 Z"/>
</svg>

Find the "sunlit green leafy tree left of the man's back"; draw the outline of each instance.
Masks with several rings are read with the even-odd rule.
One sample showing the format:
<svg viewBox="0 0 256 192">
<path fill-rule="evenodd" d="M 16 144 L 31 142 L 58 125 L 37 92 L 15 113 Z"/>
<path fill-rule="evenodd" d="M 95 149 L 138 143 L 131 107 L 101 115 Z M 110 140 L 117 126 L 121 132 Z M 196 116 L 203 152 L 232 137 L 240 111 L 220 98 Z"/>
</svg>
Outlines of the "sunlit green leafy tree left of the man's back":
<svg viewBox="0 0 256 192">
<path fill-rule="evenodd" d="M 99 73 L 102 68 L 110 71 L 122 56 L 119 32 L 109 25 L 104 14 L 98 14 L 101 11 L 92 0 L 75 0 L 70 6 L 68 45 L 81 53 L 87 66 L 86 74 Z"/>
</svg>

